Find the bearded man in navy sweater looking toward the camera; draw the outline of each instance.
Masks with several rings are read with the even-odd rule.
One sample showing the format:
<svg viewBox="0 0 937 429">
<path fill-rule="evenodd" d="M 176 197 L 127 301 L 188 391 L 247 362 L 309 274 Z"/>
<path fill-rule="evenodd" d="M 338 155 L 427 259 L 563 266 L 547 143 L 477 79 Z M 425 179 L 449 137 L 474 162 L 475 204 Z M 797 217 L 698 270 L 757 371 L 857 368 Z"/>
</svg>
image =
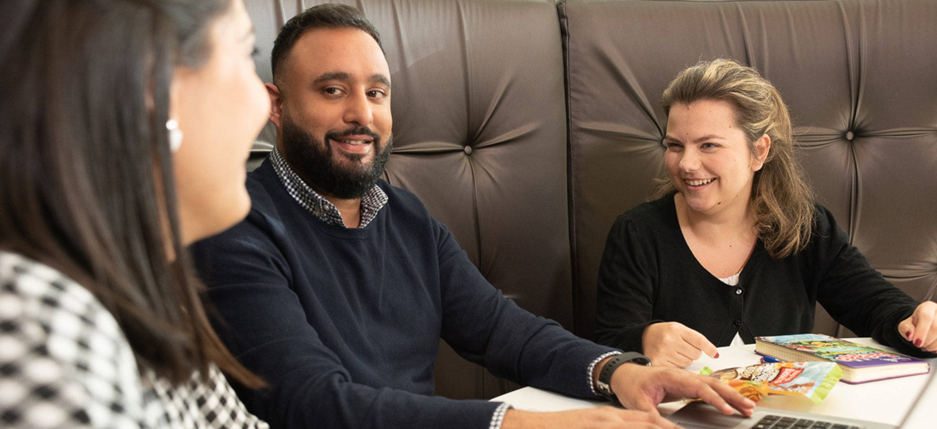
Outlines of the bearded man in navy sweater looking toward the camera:
<svg viewBox="0 0 937 429">
<path fill-rule="evenodd" d="M 713 378 L 634 363 L 647 360 L 522 310 L 420 200 L 379 180 L 393 145 L 379 40 L 353 7 L 312 7 L 283 26 L 267 84 L 276 148 L 248 176 L 251 212 L 194 248 L 218 332 L 270 383 L 239 390 L 247 407 L 274 428 L 672 428 L 655 406 L 674 392 L 751 414 Z M 498 377 L 634 410 L 432 396 L 439 338 Z"/>
</svg>

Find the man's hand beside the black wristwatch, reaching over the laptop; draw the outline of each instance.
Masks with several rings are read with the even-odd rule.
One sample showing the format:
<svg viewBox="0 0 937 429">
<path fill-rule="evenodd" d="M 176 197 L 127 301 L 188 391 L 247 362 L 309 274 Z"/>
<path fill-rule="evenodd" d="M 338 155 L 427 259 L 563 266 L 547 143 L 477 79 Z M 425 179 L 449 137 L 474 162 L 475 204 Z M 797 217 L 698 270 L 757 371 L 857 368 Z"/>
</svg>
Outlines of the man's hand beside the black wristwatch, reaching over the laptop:
<svg viewBox="0 0 937 429">
<path fill-rule="evenodd" d="M 677 368 L 635 363 L 617 367 L 612 374 L 612 392 L 626 408 L 654 415 L 660 415 L 657 405 L 668 396 L 670 399 L 701 398 L 723 414 L 732 414 L 735 408 L 742 415 L 751 416 L 755 407 L 750 399 L 716 378 L 691 374 Z"/>
</svg>

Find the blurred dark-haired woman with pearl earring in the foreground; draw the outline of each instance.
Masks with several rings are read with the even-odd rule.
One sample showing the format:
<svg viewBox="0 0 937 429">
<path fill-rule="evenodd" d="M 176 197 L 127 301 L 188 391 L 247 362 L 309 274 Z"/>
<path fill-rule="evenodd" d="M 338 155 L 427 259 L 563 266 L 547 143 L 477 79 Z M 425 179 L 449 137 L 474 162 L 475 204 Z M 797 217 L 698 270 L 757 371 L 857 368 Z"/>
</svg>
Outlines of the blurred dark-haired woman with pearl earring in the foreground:
<svg viewBox="0 0 937 429">
<path fill-rule="evenodd" d="M 0 421 L 266 427 L 186 245 L 249 209 L 268 97 L 242 0 L 0 9 Z"/>
</svg>

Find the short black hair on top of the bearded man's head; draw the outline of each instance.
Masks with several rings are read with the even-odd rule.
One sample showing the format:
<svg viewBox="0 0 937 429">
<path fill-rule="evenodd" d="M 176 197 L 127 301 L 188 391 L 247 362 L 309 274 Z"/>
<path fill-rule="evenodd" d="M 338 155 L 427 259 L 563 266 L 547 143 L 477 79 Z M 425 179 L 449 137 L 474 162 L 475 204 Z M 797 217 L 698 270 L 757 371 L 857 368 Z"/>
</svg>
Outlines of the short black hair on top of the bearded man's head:
<svg viewBox="0 0 937 429">
<path fill-rule="evenodd" d="M 380 44 L 378 29 L 367 21 L 360 10 L 334 3 L 309 7 L 283 24 L 280 34 L 274 40 L 274 50 L 270 52 L 270 67 L 274 74 L 275 84 L 276 67 L 286 60 L 296 40 L 306 31 L 314 28 L 357 28 L 374 37 L 374 40 L 378 42 L 380 52 L 384 52 L 384 46 Z"/>
</svg>

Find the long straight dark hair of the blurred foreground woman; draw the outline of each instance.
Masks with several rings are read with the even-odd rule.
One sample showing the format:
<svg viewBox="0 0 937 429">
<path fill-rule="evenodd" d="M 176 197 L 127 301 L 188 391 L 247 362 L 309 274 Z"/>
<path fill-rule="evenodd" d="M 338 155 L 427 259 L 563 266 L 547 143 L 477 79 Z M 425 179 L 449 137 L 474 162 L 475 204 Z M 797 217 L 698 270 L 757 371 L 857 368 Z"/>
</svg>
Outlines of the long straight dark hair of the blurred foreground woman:
<svg viewBox="0 0 937 429">
<path fill-rule="evenodd" d="M 189 274 L 165 126 L 173 67 L 207 60 L 209 24 L 231 1 L 2 7 L 0 248 L 90 290 L 159 376 L 181 383 L 215 362 L 260 386 L 218 340 Z"/>
</svg>

